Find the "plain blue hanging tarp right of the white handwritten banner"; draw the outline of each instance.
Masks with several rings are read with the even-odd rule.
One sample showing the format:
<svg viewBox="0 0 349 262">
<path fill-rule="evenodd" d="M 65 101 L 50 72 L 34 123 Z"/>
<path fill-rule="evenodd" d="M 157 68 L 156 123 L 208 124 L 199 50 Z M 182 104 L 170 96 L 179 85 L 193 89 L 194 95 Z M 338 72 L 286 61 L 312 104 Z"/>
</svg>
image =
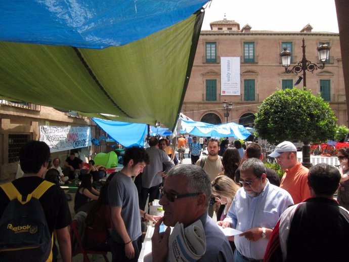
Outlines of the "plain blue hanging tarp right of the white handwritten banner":
<svg viewBox="0 0 349 262">
<path fill-rule="evenodd" d="M 126 123 L 92 118 L 112 139 L 124 147 L 143 147 L 147 124 Z"/>
</svg>

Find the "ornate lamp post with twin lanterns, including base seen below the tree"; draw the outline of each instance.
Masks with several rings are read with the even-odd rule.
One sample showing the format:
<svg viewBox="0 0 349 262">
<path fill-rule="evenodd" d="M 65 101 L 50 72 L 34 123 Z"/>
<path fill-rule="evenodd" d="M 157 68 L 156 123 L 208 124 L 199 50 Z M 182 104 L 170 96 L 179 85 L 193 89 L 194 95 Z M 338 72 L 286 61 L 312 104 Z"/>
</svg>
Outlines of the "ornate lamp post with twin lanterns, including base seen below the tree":
<svg viewBox="0 0 349 262">
<path fill-rule="evenodd" d="M 330 47 L 326 45 L 325 43 L 322 43 L 320 47 L 317 48 L 319 53 L 319 60 L 322 62 L 322 65 L 318 66 L 315 63 L 312 63 L 311 61 L 307 60 L 306 58 L 306 45 L 304 44 L 304 38 L 302 40 L 302 51 L 303 56 L 302 60 L 298 62 L 295 66 L 293 66 L 291 69 L 288 69 L 291 62 L 291 55 L 292 53 L 290 51 L 287 51 L 287 48 L 284 48 L 284 51 L 280 53 L 282 66 L 285 67 L 286 73 L 300 73 L 303 72 L 303 89 L 306 90 L 307 88 L 307 71 L 314 72 L 318 69 L 324 69 L 325 68 L 325 62 L 329 59 L 330 56 Z M 300 78 L 301 80 L 301 78 Z M 303 147 L 302 147 L 302 156 L 303 156 L 303 162 L 302 164 L 306 167 L 311 167 L 312 163 L 310 162 L 310 145 L 309 141 L 303 141 Z"/>
</svg>

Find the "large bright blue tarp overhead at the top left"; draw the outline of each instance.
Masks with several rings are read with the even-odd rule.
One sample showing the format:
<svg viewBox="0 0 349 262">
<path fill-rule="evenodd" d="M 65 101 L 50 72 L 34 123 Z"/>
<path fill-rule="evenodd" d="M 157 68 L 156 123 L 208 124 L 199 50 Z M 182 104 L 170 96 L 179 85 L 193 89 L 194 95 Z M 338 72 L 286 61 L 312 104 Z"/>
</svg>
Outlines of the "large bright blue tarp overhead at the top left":
<svg viewBox="0 0 349 262">
<path fill-rule="evenodd" d="M 204 0 L 9 0 L 0 4 L 0 41 L 102 49 L 176 24 Z"/>
</svg>

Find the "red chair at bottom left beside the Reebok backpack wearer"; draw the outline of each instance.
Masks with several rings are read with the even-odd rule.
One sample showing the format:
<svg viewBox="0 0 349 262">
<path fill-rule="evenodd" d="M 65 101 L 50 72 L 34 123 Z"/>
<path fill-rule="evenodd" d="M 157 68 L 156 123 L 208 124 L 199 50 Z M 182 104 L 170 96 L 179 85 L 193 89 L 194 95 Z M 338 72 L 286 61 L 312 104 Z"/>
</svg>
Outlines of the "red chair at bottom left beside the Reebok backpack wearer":
<svg viewBox="0 0 349 262">
<path fill-rule="evenodd" d="M 90 262 L 90 258 L 88 254 L 99 254 L 103 255 L 106 262 L 109 262 L 106 251 L 96 251 L 96 250 L 88 250 L 83 247 L 81 237 L 77 230 L 77 221 L 73 220 L 70 224 L 70 241 L 72 246 L 71 255 L 83 254 L 83 262 Z M 74 243 L 76 243 L 76 248 L 74 248 Z"/>
</svg>

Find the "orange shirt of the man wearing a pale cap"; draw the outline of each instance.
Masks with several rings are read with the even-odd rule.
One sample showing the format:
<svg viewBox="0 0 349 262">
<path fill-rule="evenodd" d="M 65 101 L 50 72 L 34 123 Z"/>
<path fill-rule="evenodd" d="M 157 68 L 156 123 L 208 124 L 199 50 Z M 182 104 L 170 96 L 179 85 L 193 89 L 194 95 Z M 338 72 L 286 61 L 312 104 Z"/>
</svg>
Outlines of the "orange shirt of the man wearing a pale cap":
<svg viewBox="0 0 349 262">
<path fill-rule="evenodd" d="M 281 179 L 280 187 L 290 193 L 294 204 L 310 198 L 310 190 L 307 184 L 309 169 L 298 162 L 290 169 L 286 169 Z"/>
</svg>

